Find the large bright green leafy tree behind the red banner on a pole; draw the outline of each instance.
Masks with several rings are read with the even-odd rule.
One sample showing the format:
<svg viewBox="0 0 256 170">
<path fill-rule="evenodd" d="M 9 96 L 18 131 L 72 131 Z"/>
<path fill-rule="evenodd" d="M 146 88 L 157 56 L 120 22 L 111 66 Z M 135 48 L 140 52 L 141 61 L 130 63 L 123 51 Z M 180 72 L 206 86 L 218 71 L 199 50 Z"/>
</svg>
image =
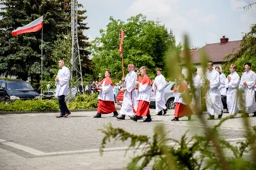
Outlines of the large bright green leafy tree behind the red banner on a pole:
<svg viewBox="0 0 256 170">
<path fill-rule="evenodd" d="M 91 48 L 95 76 L 108 68 L 114 73 L 112 77 L 122 77 L 122 60 L 118 52 L 120 29 L 125 32 L 124 67 L 129 63 L 134 63 L 136 67 L 147 66 L 151 78 L 156 67 L 164 68 L 164 53 L 168 48 L 177 48 L 175 36 L 164 25 L 141 17 L 141 14 L 136 15 L 127 19 L 126 23 L 110 17 L 106 31 L 100 29 L 101 37 L 95 38 Z"/>
</svg>

